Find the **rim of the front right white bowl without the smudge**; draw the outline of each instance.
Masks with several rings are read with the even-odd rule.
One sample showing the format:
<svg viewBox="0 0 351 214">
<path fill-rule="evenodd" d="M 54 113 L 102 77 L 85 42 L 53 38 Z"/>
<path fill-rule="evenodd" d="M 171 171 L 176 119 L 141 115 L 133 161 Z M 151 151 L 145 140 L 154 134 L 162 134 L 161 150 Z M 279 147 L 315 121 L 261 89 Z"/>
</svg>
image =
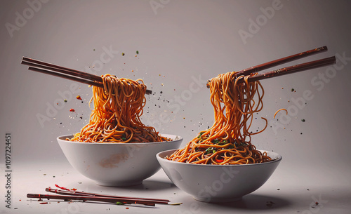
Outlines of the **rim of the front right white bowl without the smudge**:
<svg viewBox="0 0 351 214">
<path fill-rule="evenodd" d="M 257 150 L 260 152 L 270 152 L 270 153 L 277 154 L 277 158 L 274 159 L 273 161 L 269 161 L 269 162 L 265 162 L 265 163 L 250 163 L 250 164 L 238 164 L 238 165 L 213 165 L 213 164 L 194 164 L 194 163 L 184 163 L 184 162 L 171 161 L 168 159 L 164 159 L 163 157 L 160 156 L 163 153 L 175 152 L 176 150 L 178 150 L 178 149 L 168 149 L 168 150 L 157 153 L 156 154 L 157 160 L 165 161 L 167 163 L 183 164 L 184 166 L 199 166 L 199 167 L 245 167 L 246 166 L 246 167 L 251 167 L 251 166 L 262 166 L 264 164 L 277 163 L 279 161 L 282 161 L 282 159 L 283 159 L 282 155 L 278 154 L 277 152 L 272 152 L 272 151 L 263 150 L 263 149 L 257 149 Z"/>
</svg>

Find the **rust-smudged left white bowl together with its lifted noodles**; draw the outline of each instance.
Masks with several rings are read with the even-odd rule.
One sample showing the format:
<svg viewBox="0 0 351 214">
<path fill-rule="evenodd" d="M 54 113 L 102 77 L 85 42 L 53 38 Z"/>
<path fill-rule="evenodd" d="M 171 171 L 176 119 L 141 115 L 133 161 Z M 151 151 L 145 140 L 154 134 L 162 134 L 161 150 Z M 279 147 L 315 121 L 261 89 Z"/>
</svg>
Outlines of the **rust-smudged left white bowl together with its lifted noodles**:
<svg viewBox="0 0 351 214">
<path fill-rule="evenodd" d="M 143 124 L 142 79 L 101 78 L 103 87 L 93 86 L 89 122 L 74 135 L 58 137 L 58 143 L 69 163 L 98 185 L 138 185 L 161 168 L 156 154 L 178 148 L 183 138 Z"/>
</svg>

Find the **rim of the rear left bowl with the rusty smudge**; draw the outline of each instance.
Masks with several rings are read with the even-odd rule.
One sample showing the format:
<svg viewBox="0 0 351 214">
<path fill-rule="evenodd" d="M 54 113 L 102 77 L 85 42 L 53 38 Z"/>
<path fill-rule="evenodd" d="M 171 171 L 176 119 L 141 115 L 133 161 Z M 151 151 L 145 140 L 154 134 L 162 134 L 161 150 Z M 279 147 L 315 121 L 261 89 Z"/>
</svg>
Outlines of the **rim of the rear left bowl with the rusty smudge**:
<svg viewBox="0 0 351 214">
<path fill-rule="evenodd" d="M 77 141 L 69 141 L 69 140 L 65 140 L 66 138 L 72 138 L 74 135 L 73 134 L 69 134 L 69 135 L 60 135 L 56 138 L 56 140 L 58 140 L 58 142 L 67 142 L 67 143 L 76 143 L 79 145 L 153 145 L 153 144 L 164 144 L 164 143 L 172 143 L 172 142 L 176 142 L 179 140 L 183 140 L 183 137 L 181 137 L 180 135 L 170 135 L 170 134 L 164 134 L 164 133 L 159 133 L 159 135 L 163 135 L 166 136 L 168 135 L 169 137 L 175 137 L 178 138 L 176 140 L 172 140 L 172 141 L 161 141 L 161 142 L 133 142 L 133 143 L 118 143 L 118 142 L 77 142 Z"/>
</svg>

